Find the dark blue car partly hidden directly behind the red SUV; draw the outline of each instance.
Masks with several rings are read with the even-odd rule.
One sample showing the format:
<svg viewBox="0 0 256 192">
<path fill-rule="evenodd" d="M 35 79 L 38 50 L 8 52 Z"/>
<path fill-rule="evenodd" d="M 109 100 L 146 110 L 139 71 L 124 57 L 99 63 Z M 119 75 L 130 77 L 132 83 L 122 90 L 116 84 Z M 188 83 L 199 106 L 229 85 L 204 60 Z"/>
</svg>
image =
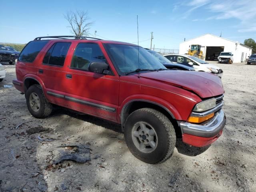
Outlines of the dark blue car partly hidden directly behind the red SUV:
<svg viewBox="0 0 256 192">
<path fill-rule="evenodd" d="M 164 56 L 162 56 L 160 53 L 152 51 L 150 49 L 146 49 L 150 54 L 152 54 L 160 63 L 162 63 L 166 68 L 171 70 L 185 70 L 185 71 L 195 71 L 193 65 L 186 66 L 178 63 L 173 63 Z"/>
</svg>

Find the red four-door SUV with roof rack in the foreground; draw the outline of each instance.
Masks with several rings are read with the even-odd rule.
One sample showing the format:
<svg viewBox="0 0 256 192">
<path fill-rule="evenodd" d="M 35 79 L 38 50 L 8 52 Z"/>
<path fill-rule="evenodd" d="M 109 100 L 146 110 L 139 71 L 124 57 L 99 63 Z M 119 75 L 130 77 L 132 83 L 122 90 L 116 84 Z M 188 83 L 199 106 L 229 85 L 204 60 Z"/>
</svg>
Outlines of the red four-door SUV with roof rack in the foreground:
<svg viewBox="0 0 256 192">
<path fill-rule="evenodd" d="M 168 70 L 134 44 L 38 37 L 20 53 L 16 76 L 34 117 L 49 116 L 56 104 L 119 123 L 132 154 L 151 164 L 172 156 L 176 138 L 211 144 L 226 122 L 220 78 Z"/>
</svg>

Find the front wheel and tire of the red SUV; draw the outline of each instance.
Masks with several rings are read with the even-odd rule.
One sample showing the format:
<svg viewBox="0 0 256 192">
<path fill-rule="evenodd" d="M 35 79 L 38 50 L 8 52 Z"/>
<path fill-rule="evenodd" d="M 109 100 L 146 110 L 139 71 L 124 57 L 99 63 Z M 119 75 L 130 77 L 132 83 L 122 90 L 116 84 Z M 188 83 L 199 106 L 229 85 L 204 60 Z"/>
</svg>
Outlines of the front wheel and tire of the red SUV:
<svg viewBox="0 0 256 192">
<path fill-rule="evenodd" d="M 145 129 L 143 133 L 144 126 L 141 124 L 149 131 Z M 152 134 L 153 131 L 155 135 Z M 150 164 L 160 164 L 168 160 L 176 143 L 175 130 L 170 120 L 152 108 L 138 109 L 128 116 L 124 126 L 124 138 L 130 152 L 139 160 Z M 149 145 L 152 141 L 155 145 Z M 143 144 L 149 146 L 143 147 Z"/>
</svg>

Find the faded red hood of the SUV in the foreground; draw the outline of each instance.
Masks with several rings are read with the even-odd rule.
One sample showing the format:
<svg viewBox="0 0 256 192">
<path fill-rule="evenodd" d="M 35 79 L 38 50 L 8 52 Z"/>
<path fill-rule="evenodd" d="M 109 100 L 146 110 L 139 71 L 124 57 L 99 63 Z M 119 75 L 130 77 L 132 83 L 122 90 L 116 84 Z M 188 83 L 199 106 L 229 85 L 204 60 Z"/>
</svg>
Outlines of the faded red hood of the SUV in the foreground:
<svg viewBox="0 0 256 192">
<path fill-rule="evenodd" d="M 166 70 L 142 73 L 140 77 L 190 90 L 201 98 L 213 97 L 224 93 L 221 79 L 207 72 Z"/>
</svg>

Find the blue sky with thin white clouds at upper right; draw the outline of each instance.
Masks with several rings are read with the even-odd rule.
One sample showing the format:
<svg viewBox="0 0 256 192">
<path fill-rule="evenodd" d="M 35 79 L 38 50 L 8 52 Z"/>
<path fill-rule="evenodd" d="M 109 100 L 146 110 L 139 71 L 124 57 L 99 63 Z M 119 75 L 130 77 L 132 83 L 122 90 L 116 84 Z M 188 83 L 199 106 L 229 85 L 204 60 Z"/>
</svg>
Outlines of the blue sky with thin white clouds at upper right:
<svg viewBox="0 0 256 192">
<path fill-rule="evenodd" d="M 178 49 L 180 42 L 211 33 L 231 40 L 256 40 L 256 0 L 1 0 L 0 42 L 27 43 L 37 36 L 71 35 L 63 14 L 88 10 L 98 38 Z M 153 46 L 152 45 L 152 46 Z"/>
</svg>

